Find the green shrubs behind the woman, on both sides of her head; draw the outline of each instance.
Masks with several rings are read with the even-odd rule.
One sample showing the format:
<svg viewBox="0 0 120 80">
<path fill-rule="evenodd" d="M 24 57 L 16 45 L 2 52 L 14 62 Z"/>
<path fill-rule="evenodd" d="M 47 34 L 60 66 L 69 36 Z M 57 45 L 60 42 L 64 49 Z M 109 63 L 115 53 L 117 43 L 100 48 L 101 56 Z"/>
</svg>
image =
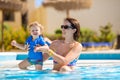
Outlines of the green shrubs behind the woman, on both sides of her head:
<svg viewBox="0 0 120 80">
<path fill-rule="evenodd" d="M 62 31 L 57 29 L 55 34 L 47 35 L 51 40 L 62 39 Z M 116 34 L 112 32 L 112 25 L 108 23 L 105 26 L 100 26 L 100 35 L 94 30 L 88 28 L 81 28 L 81 36 L 79 42 L 112 42 L 116 38 Z"/>
</svg>

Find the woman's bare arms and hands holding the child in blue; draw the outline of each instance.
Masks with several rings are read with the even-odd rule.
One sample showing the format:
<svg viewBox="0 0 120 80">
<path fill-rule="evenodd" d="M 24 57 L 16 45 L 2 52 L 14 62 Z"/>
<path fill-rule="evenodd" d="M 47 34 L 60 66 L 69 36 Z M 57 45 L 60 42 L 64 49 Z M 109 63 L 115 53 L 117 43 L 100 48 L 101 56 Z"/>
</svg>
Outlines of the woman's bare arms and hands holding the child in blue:
<svg viewBox="0 0 120 80">
<path fill-rule="evenodd" d="M 56 43 L 55 43 L 56 44 Z M 82 45 L 80 43 L 77 43 L 76 46 L 74 46 L 69 52 L 68 54 L 63 57 L 57 53 L 55 53 L 53 50 L 56 46 L 54 42 L 50 45 L 49 48 L 45 48 L 45 47 L 39 47 L 39 49 L 35 49 L 36 51 L 42 51 L 44 53 L 47 53 L 47 54 L 44 54 L 44 55 L 47 55 L 47 56 L 44 56 L 45 59 L 48 59 L 49 56 L 51 56 L 55 61 L 57 61 L 59 64 L 61 65 L 67 65 L 68 63 L 70 63 L 72 60 L 74 60 L 75 58 L 79 57 L 80 55 L 80 52 L 82 51 Z"/>
</svg>

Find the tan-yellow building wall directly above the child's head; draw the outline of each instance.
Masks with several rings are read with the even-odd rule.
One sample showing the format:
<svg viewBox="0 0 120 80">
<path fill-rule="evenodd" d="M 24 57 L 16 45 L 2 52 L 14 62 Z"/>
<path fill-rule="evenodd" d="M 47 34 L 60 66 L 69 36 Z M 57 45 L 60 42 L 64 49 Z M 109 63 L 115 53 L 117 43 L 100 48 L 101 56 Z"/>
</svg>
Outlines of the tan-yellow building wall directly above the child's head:
<svg viewBox="0 0 120 80">
<path fill-rule="evenodd" d="M 27 1 L 28 8 L 28 24 L 34 21 L 38 21 L 44 26 L 44 32 L 46 33 L 46 10 L 44 7 L 35 8 L 35 0 Z"/>
</svg>

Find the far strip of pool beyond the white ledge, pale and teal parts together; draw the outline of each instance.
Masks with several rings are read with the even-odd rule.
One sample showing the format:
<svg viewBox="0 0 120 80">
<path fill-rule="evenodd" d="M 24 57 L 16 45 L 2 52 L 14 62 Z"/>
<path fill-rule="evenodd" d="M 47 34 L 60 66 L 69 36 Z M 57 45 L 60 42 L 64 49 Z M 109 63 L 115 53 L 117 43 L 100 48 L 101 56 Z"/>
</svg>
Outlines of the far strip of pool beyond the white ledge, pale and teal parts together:
<svg viewBox="0 0 120 80">
<path fill-rule="evenodd" d="M 6 55 L 1 55 L 6 54 Z M 7 55 L 9 54 L 9 55 Z M 0 61 L 3 60 L 24 60 L 27 58 L 26 53 L 14 52 L 12 53 L 0 53 Z M 84 52 L 80 54 L 80 60 L 120 60 L 120 51 L 119 52 L 96 52 L 88 53 Z"/>
</svg>

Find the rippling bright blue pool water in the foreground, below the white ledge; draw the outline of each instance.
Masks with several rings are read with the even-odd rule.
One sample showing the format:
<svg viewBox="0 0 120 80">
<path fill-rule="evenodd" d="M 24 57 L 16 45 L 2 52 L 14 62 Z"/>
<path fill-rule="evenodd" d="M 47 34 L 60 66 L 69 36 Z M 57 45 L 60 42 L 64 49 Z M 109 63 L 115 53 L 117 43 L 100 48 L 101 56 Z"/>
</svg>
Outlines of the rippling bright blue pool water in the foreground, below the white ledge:
<svg viewBox="0 0 120 80">
<path fill-rule="evenodd" d="M 54 73 L 49 69 L 0 70 L 0 80 L 120 80 L 120 65 L 80 66 L 70 73 Z"/>
</svg>

